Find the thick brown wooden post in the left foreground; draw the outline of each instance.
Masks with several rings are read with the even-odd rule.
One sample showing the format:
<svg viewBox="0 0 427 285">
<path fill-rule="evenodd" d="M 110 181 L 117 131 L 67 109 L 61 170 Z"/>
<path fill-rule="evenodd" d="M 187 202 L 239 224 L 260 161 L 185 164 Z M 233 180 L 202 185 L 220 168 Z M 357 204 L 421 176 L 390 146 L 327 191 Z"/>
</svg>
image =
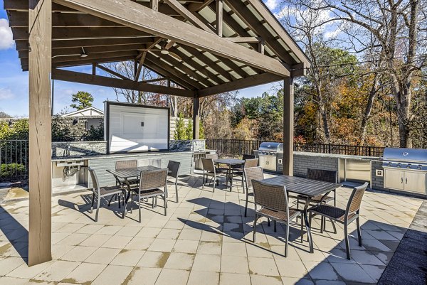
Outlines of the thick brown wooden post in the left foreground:
<svg viewBox="0 0 427 285">
<path fill-rule="evenodd" d="M 29 0 L 29 226 L 28 266 L 51 254 L 52 0 Z"/>
</svg>

